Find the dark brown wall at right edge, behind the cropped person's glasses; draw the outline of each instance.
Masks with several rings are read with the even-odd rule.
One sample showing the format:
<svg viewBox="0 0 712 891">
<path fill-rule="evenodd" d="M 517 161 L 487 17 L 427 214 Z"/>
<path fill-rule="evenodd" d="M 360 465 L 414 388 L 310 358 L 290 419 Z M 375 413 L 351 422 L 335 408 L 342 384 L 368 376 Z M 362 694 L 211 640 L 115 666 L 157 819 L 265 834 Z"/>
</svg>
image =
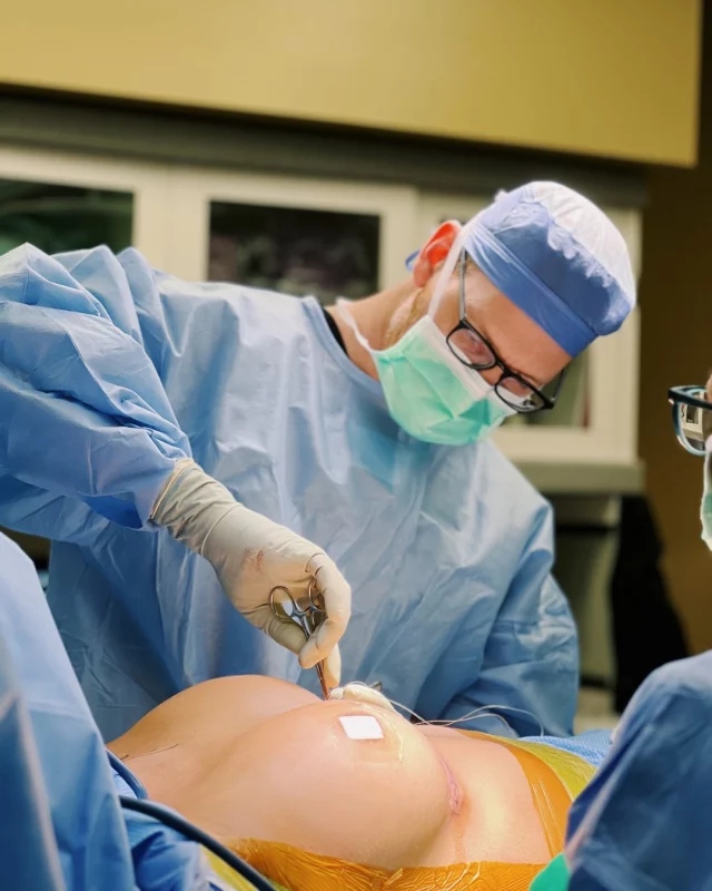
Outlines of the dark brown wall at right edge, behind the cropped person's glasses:
<svg viewBox="0 0 712 891">
<path fill-rule="evenodd" d="M 700 539 L 702 461 L 678 444 L 668 388 L 712 371 L 712 17 L 703 38 L 700 163 L 653 168 L 641 282 L 640 450 L 664 569 L 695 650 L 712 647 L 712 554 Z M 645 634 L 645 616 L 640 617 Z"/>
</svg>

